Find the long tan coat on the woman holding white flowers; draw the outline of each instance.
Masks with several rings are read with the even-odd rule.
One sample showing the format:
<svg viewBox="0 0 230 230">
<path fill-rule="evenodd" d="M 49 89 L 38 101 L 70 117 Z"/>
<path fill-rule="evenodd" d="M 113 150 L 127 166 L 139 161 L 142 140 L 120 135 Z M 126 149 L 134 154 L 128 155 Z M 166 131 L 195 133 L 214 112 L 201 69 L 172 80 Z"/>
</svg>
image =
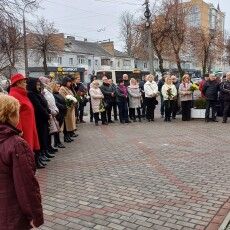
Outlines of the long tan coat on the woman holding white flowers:
<svg viewBox="0 0 230 230">
<path fill-rule="evenodd" d="M 73 95 L 73 92 L 65 86 L 62 86 L 59 93 L 66 98 L 67 95 Z M 65 116 L 66 131 L 71 132 L 77 129 L 76 127 L 76 117 L 75 117 L 75 105 L 67 109 L 67 114 Z"/>
</svg>

